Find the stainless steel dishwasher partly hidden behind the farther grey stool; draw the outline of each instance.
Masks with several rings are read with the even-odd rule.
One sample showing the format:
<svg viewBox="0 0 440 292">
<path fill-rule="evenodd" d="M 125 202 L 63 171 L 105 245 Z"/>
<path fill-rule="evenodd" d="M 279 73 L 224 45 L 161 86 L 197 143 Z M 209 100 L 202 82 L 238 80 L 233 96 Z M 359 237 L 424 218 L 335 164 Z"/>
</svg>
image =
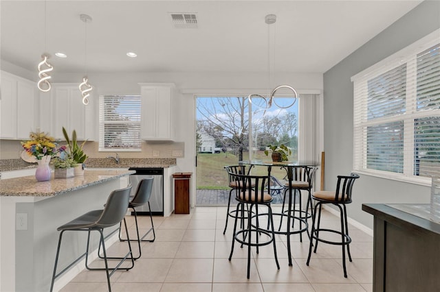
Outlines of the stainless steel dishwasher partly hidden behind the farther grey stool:
<svg viewBox="0 0 440 292">
<path fill-rule="evenodd" d="M 130 175 L 131 195 L 135 195 L 137 184 L 144 178 L 154 178 L 153 190 L 151 191 L 150 206 L 152 215 L 164 215 L 164 169 L 131 167 L 129 170 L 136 171 Z M 149 215 L 148 204 L 136 208 L 137 215 Z"/>
</svg>

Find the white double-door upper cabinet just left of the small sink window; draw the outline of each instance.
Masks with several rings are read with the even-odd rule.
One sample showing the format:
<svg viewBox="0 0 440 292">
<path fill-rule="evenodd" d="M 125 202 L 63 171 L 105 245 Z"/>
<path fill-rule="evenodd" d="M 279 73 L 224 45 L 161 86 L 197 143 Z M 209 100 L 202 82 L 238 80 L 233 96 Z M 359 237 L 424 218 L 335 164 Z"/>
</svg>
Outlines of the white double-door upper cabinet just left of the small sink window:
<svg viewBox="0 0 440 292">
<path fill-rule="evenodd" d="M 77 84 L 52 84 L 50 93 L 40 94 L 41 131 L 50 132 L 56 139 L 64 140 L 63 127 L 69 136 L 75 130 L 78 140 L 94 140 L 94 99 L 83 104 Z"/>
</svg>

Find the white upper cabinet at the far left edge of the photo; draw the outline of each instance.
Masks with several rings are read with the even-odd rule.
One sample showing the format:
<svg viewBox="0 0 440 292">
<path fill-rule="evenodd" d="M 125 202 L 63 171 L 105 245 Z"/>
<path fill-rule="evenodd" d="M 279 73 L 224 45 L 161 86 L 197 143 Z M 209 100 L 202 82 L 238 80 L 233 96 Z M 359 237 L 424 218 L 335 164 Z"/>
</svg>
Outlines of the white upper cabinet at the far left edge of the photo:
<svg viewBox="0 0 440 292">
<path fill-rule="evenodd" d="M 0 138 L 23 140 L 37 130 L 36 84 L 1 71 Z"/>
</svg>

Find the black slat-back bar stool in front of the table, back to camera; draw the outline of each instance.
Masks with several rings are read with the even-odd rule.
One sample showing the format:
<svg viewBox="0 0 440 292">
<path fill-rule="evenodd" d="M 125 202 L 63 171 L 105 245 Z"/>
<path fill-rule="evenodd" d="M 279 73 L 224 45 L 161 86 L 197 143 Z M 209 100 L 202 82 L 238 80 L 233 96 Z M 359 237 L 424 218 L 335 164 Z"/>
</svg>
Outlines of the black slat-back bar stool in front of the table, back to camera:
<svg viewBox="0 0 440 292">
<path fill-rule="evenodd" d="M 276 243 L 274 233 L 274 221 L 272 219 L 272 208 L 270 203 L 272 202 L 272 196 L 270 195 L 270 176 L 260 175 L 243 175 L 236 173 L 229 173 L 232 180 L 236 182 L 236 185 L 241 186 L 236 189 L 235 199 L 239 204 L 236 206 L 236 216 L 234 221 L 234 234 L 232 239 L 231 253 L 229 260 L 232 259 L 234 253 L 235 241 L 241 243 L 241 245 L 248 245 L 248 279 L 250 278 L 250 248 L 256 247 L 256 252 L 259 252 L 259 247 L 262 245 L 268 245 L 272 243 L 274 245 L 274 257 L 276 267 L 280 269 L 278 264 L 278 258 L 276 256 Z M 268 225 L 270 229 L 263 229 L 259 226 L 259 206 L 267 206 L 267 213 L 261 214 L 261 216 L 267 215 Z M 255 215 L 252 212 L 252 208 L 255 207 Z M 239 216 L 239 212 L 241 216 Z M 243 229 L 237 231 L 237 221 L 241 219 Z M 256 219 L 256 223 L 252 224 L 252 218 Z M 245 219 L 248 220 L 246 226 L 244 224 Z M 270 224 L 269 224 L 270 223 Z M 245 227 L 244 227 L 245 226 Z M 264 240 L 261 241 L 260 237 L 264 236 Z M 254 241 L 252 241 L 254 239 Z"/>
</svg>

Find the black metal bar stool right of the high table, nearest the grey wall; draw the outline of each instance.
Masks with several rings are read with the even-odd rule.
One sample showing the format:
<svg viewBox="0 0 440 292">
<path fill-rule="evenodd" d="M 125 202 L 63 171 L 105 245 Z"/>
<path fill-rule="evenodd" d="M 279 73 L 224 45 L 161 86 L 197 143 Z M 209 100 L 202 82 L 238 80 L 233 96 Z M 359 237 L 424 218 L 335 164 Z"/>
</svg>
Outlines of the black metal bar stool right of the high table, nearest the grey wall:
<svg viewBox="0 0 440 292">
<path fill-rule="evenodd" d="M 347 208 L 345 205 L 350 204 L 351 201 L 351 192 L 353 190 L 353 184 L 356 179 L 359 178 L 359 175 L 355 173 L 351 173 L 351 175 L 338 175 L 338 183 L 336 184 L 336 191 L 317 191 L 311 195 L 312 199 L 315 199 L 317 201 L 315 205 L 315 211 L 311 226 L 311 232 L 310 232 L 310 245 L 309 245 L 309 256 L 307 256 L 307 265 L 310 263 L 310 257 L 311 257 L 311 247 L 313 245 L 313 240 L 315 239 L 315 249 L 314 252 L 316 253 L 316 249 L 318 248 L 318 241 L 321 241 L 323 243 L 329 243 L 332 245 L 342 245 L 342 267 L 344 268 L 344 277 L 347 278 L 347 267 L 345 266 L 345 247 L 347 246 L 347 254 L 349 255 L 349 260 L 351 260 L 351 254 L 350 254 L 350 243 L 351 243 L 351 237 L 349 236 L 349 226 L 347 222 Z M 341 230 L 331 230 L 327 228 L 320 228 L 320 221 L 321 221 L 321 210 L 323 204 L 333 204 L 334 206 L 337 206 L 340 211 L 340 219 L 341 219 Z M 317 209 L 319 207 L 318 212 L 318 221 L 316 223 L 316 214 Z M 326 239 L 323 239 L 320 237 L 320 232 L 331 232 L 340 234 L 341 241 L 329 241 Z M 322 234 L 321 234 L 322 235 Z"/>
</svg>

